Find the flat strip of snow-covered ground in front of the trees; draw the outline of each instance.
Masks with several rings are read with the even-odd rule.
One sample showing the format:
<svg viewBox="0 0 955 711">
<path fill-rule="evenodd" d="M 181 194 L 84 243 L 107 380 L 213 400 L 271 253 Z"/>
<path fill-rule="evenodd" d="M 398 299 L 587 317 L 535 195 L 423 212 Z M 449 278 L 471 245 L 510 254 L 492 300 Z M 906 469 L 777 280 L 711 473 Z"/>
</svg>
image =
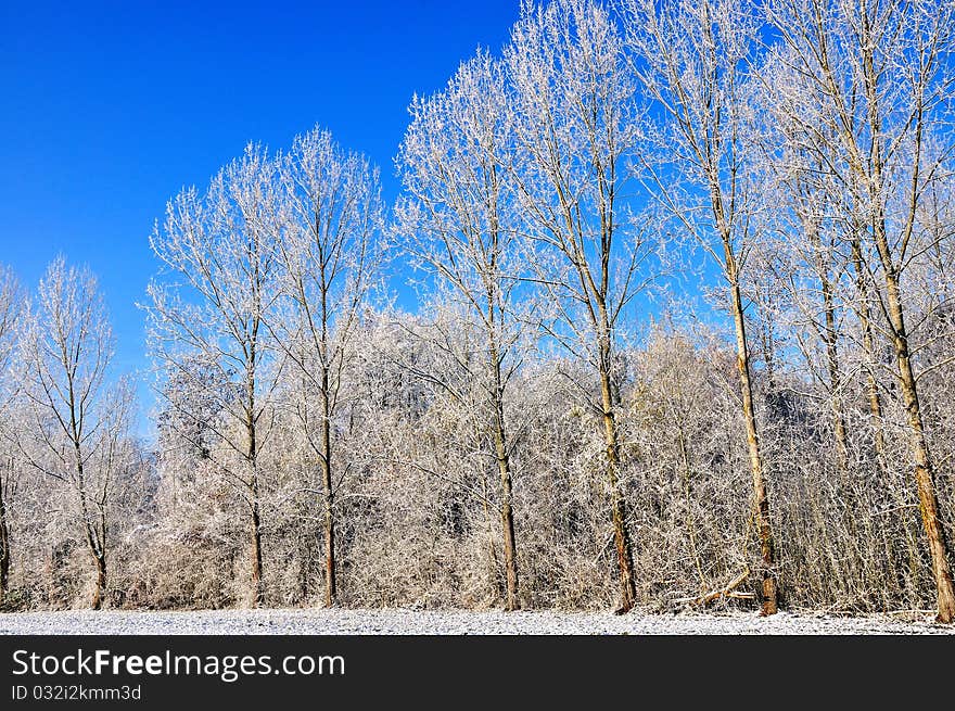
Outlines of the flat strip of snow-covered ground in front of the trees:
<svg viewBox="0 0 955 711">
<path fill-rule="evenodd" d="M 917 614 L 831 617 L 780 612 L 626 614 L 462 610 L 88 610 L 0 614 L 0 634 L 955 634 Z"/>
</svg>

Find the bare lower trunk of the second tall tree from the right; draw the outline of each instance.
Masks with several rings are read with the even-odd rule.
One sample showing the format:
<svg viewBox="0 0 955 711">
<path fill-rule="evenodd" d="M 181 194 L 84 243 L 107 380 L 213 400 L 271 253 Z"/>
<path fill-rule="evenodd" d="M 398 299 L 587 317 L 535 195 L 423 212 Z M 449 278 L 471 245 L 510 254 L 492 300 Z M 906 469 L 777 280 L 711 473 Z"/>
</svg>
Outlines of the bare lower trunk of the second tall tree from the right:
<svg viewBox="0 0 955 711">
<path fill-rule="evenodd" d="M 750 376 L 749 345 L 747 343 L 746 320 L 742 309 L 742 294 L 739 289 L 739 274 L 731 246 L 726 239 L 724 239 L 724 250 L 726 253 L 726 274 L 729 277 L 730 283 L 733 319 L 736 326 L 736 364 L 739 370 L 740 390 L 742 391 L 742 414 L 746 420 L 750 470 L 753 477 L 756 531 L 760 537 L 760 553 L 763 559 L 762 614 L 768 615 L 775 614 L 778 611 L 778 591 L 775 573 L 776 549 L 773 541 L 773 529 L 769 522 L 769 497 L 766 494 L 756 416 L 753 409 L 753 386 Z"/>
</svg>

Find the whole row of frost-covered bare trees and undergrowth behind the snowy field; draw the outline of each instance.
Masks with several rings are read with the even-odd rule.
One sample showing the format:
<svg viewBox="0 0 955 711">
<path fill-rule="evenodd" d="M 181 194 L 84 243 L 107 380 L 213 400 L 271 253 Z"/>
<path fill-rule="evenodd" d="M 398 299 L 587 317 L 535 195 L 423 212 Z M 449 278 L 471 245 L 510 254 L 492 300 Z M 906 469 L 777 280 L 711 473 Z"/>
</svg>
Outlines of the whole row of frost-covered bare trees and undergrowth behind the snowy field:
<svg viewBox="0 0 955 711">
<path fill-rule="evenodd" d="M 2 605 L 952 622 L 953 15 L 526 2 L 393 204 L 251 143 L 150 237 L 154 443 L 96 278 L 3 270 Z"/>
</svg>

